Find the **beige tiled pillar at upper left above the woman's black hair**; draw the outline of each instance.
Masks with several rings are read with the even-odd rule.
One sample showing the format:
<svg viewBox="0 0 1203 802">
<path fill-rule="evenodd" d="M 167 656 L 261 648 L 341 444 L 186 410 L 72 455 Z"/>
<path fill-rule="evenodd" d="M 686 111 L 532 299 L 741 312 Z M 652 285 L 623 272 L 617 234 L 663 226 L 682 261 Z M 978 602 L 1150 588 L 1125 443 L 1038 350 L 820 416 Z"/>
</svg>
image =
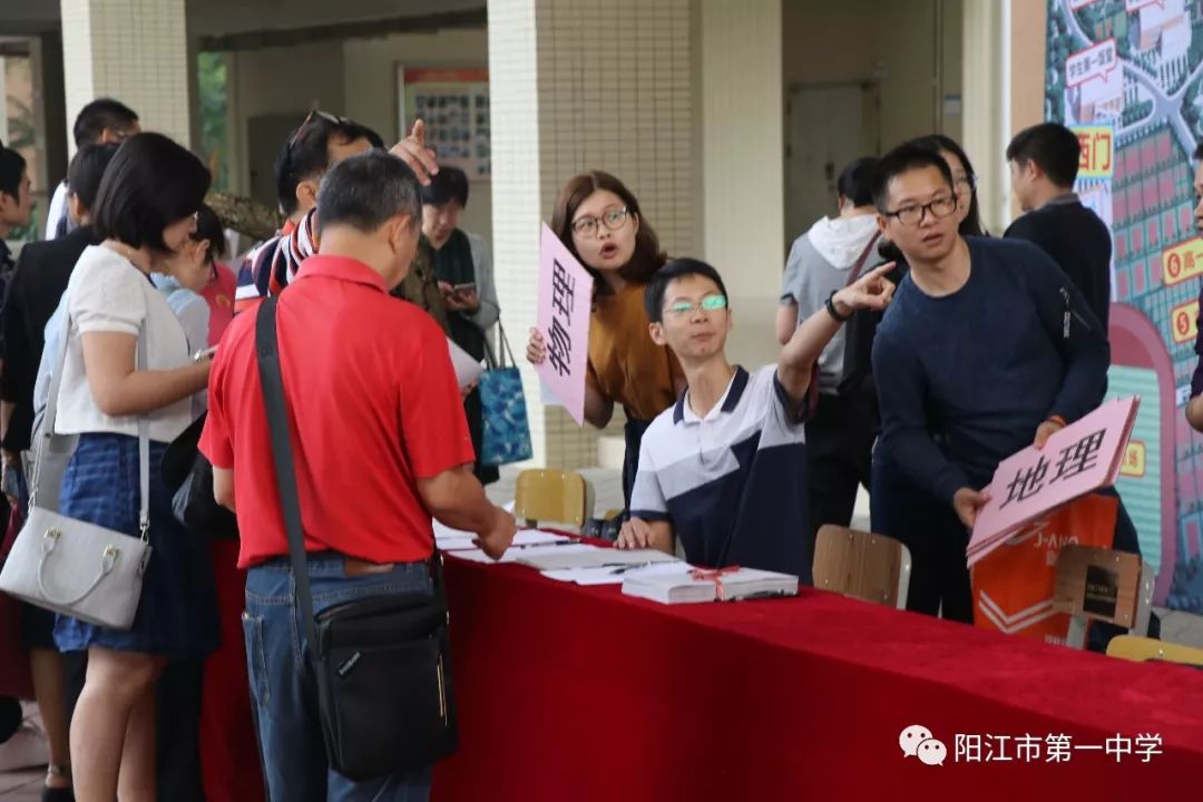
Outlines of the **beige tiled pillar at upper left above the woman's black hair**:
<svg viewBox="0 0 1203 802">
<path fill-rule="evenodd" d="M 61 0 L 67 125 L 96 97 L 115 97 L 142 126 L 189 144 L 184 0 Z M 75 153 L 71 139 L 70 150 Z"/>
</svg>

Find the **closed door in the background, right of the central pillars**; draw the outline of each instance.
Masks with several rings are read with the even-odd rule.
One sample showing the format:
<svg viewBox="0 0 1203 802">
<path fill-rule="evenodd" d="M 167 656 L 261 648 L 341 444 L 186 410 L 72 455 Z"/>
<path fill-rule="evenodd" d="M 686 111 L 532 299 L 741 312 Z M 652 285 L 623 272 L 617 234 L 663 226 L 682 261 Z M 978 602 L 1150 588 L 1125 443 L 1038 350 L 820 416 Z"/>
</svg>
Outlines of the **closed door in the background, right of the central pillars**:
<svg viewBox="0 0 1203 802">
<path fill-rule="evenodd" d="M 787 246 L 822 216 L 834 215 L 840 171 L 878 155 L 875 84 L 796 87 L 786 107 Z"/>
</svg>

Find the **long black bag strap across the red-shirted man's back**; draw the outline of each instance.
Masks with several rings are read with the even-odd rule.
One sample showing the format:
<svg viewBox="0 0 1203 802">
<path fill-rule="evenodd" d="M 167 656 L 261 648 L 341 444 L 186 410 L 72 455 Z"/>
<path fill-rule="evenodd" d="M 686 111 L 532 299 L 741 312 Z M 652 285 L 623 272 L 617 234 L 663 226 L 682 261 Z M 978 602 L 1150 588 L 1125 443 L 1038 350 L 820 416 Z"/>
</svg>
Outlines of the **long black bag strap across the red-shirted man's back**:
<svg viewBox="0 0 1203 802">
<path fill-rule="evenodd" d="M 255 352 L 259 360 L 259 384 L 263 390 L 263 411 L 272 436 L 272 462 L 275 468 L 275 492 L 284 512 L 284 531 L 289 537 L 289 562 L 296 582 L 296 600 L 301 607 L 309 654 L 316 654 L 318 628 L 313 618 L 313 595 L 309 590 L 309 562 L 304 552 L 304 529 L 301 524 L 301 499 L 297 495 L 296 468 L 292 463 L 292 441 L 289 439 L 289 408 L 284 399 L 284 376 L 280 373 L 279 340 L 275 332 L 277 296 L 268 296 L 255 313 Z"/>
</svg>

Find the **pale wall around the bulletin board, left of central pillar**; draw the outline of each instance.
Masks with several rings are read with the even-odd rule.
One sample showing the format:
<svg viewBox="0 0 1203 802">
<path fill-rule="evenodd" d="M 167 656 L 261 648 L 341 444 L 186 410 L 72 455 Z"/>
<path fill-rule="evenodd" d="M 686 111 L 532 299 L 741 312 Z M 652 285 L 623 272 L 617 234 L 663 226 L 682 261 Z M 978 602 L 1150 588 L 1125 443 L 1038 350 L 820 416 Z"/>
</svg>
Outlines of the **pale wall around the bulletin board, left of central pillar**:
<svg viewBox="0 0 1203 802">
<path fill-rule="evenodd" d="M 369 125 L 390 143 L 397 130 L 397 65 L 405 67 L 487 67 L 488 34 L 481 30 L 446 30 L 434 34 L 399 34 L 383 38 L 348 40 L 343 43 L 344 113 Z M 493 240 L 493 197 L 490 182 L 473 182 L 468 208 L 460 225 Z"/>
</svg>

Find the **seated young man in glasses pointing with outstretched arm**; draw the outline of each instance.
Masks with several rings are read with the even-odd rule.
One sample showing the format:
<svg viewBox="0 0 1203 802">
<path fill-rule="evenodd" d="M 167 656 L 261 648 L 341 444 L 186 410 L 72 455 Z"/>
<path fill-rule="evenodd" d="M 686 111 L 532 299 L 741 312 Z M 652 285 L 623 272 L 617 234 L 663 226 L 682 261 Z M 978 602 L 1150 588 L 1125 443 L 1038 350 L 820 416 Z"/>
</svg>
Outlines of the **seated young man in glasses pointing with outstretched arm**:
<svg viewBox="0 0 1203 802">
<path fill-rule="evenodd" d="M 811 581 L 806 391 L 823 347 L 857 309 L 884 309 L 894 285 L 869 272 L 798 327 L 776 366 L 727 361 L 727 287 L 710 265 L 675 260 L 646 290 L 650 331 L 672 349 L 688 388 L 644 435 L 632 519 L 620 548 L 674 551 L 694 565 L 740 565 Z"/>
</svg>

